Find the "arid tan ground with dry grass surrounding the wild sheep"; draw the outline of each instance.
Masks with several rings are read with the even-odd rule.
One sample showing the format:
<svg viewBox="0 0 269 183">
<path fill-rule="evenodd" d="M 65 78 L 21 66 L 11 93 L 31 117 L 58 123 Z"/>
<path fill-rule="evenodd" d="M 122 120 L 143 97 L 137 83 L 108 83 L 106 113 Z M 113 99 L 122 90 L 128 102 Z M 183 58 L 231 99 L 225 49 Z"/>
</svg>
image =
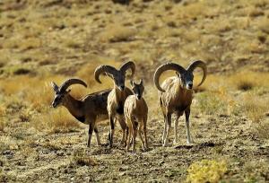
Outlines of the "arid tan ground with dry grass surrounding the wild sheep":
<svg viewBox="0 0 269 183">
<path fill-rule="evenodd" d="M 0 182 L 269 182 L 268 0 L 1 0 Z M 178 143 L 162 147 L 155 69 L 204 60 L 191 133 L 179 119 Z M 149 150 L 97 146 L 88 126 L 53 109 L 50 82 L 81 78 L 76 99 L 112 88 L 94 80 L 98 65 L 136 64 L 149 106 Z M 174 74 L 168 72 L 165 76 Z M 195 84 L 202 72 L 195 71 Z M 164 77 L 162 78 L 162 80 Z M 129 86 L 129 81 L 126 81 Z M 101 143 L 108 120 L 98 124 Z"/>
</svg>

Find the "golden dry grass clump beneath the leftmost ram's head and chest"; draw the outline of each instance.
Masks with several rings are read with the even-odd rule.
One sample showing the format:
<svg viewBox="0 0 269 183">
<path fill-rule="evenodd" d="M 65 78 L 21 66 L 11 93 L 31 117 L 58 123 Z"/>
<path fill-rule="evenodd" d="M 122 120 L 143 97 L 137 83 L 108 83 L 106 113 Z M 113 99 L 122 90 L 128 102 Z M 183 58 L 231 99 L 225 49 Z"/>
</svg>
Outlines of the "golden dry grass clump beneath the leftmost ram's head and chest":
<svg viewBox="0 0 269 183">
<path fill-rule="evenodd" d="M 52 109 L 48 113 L 37 115 L 31 120 L 32 126 L 48 133 L 74 132 L 80 125 L 66 109 Z"/>
</svg>

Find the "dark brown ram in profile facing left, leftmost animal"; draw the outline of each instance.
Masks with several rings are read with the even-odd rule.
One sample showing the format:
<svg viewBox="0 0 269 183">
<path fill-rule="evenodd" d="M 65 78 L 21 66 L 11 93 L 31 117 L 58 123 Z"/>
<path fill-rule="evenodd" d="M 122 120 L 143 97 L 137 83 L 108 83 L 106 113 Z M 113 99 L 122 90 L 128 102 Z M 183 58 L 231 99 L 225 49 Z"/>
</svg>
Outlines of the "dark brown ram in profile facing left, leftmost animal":
<svg viewBox="0 0 269 183">
<path fill-rule="evenodd" d="M 87 87 L 86 83 L 75 78 L 66 80 L 61 86 L 57 86 L 56 83 L 51 82 L 52 89 L 55 92 L 55 97 L 51 106 L 53 108 L 64 106 L 74 118 L 83 124 L 89 125 L 87 144 L 89 148 L 91 146 L 91 135 L 93 131 L 96 135 L 97 144 L 100 145 L 100 137 L 96 122 L 108 119 L 108 93 L 111 92 L 111 89 L 94 92 L 84 96 L 81 100 L 76 100 L 70 95 L 71 90 L 67 90 L 68 87 L 73 84 L 81 84 L 84 87 Z"/>
</svg>

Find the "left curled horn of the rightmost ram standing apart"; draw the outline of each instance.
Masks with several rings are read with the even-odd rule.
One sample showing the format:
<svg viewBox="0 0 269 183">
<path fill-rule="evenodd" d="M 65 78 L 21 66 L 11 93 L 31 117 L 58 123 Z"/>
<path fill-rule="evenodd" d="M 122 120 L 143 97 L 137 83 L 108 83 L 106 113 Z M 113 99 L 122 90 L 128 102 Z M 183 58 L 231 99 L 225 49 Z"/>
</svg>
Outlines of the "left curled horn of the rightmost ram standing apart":
<svg viewBox="0 0 269 183">
<path fill-rule="evenodd" d="M 160 79 L 161 74 L 167 70 L 178 71 L 179 74 L 183 74 L 186 72 L 185 68 L 183 68 L 182 66 L 180 66 L 178 64 L 174 64 L 174 63 L 169 62 L 169 63 L 163 64 L 163 65 L 160 65 L 155 71 L 153 80 L 154 80 L 155 86 L 161 92 L 165 92 L 165 91 L 161 88 L 160 83 L 159 83 L 159 79 Z"/>
</svg>

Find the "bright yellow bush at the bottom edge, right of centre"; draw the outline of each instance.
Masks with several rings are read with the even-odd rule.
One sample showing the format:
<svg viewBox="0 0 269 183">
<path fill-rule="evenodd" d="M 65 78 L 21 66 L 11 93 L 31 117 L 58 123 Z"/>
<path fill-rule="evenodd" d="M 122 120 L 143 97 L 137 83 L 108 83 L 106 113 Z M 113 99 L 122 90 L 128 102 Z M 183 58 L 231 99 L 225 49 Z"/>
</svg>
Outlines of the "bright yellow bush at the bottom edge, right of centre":
<svg viewBox="0 0 269 183">
<path fill-rule="evenodd" d="M 228 170 L 226 161 L 202 160 L 196 161 L 187 169 L 187 182 L 214 183 L 219 182 Z"/>
</svg>

